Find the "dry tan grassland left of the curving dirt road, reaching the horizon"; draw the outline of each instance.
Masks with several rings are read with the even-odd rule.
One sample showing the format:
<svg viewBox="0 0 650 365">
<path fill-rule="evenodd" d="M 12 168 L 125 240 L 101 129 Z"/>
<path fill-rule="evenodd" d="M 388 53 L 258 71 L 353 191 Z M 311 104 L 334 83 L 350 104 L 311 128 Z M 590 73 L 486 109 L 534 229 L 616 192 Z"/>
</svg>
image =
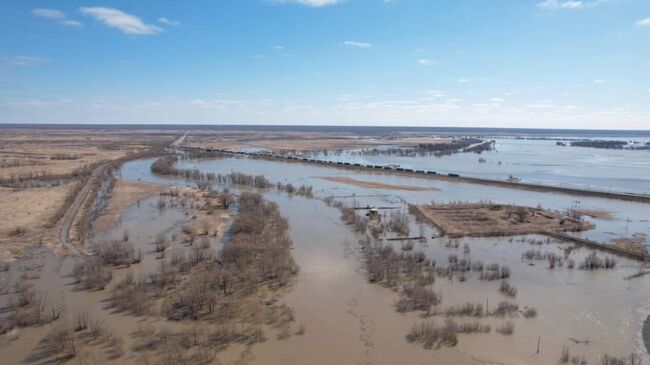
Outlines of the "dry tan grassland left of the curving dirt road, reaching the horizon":
<svg viewBox="0 0 650 365">
<path fill-rule="evenodd" d="M 21 257 L 25 247 L 35 244 L 60 250 L 58 232 L 68 208 L 84 185 L 94 184 L 95 190 L 100 186 L 92 178 L 93 169 L 161 150 L 181 134 L 96 127 L 0 129 L 0 258 Z M 95 199 L 96 192 L 90 191 Z M 120 201 L 142 194 L 125 194 Z M 82 205 L 80 217 L 92 203 Z"/>
</svg>

